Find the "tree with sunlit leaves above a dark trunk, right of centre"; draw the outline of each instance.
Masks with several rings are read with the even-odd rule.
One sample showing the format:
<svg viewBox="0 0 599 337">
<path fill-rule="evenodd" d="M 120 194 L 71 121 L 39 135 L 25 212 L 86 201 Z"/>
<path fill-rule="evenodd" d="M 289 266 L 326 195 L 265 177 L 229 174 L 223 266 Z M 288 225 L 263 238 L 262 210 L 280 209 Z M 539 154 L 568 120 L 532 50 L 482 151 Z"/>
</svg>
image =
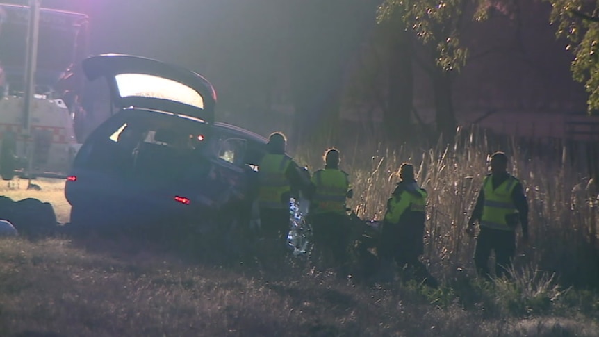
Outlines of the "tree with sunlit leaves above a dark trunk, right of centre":
<svg viewBox="0 0 599 337">
<path fill-rule="evenodd" d="M 487 0 L 385 0 L 379 7 L 378 22 L 400 20 L 402 29 L 412 31 L 427 49 L 418 58 L 430 76 L 434 90 L 436 129 L 445 140 L 455 134 L 457 120 L 452 101 L 452 77 L 466 64 L 468 49 L 460 43 L 461 27 L 470 19 L 482 21 L 493 1 Z M 390 93 L 396 94 L 396 93 Z"/>
</svg>

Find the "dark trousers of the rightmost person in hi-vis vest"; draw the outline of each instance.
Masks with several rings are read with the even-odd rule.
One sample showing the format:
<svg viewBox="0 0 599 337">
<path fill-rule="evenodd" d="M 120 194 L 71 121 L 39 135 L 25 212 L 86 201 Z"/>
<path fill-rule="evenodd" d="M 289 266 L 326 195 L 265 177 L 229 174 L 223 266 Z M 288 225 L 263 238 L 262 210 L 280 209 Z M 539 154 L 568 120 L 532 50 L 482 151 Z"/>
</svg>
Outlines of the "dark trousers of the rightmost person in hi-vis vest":
<svg viewBox="0 0 599 337">
<path fill-rule="evenodd" d="M 489 257 L 491 251 L 495 252 L 495 266 L 493 272 L 497 277 L 507 276 L 507 270 L 511 267 L 511 260 L 516 254 L 516 231 L 503 231 L 480 227 L 480 233 L 476 241 L 474 263 L 479 276 L 489 279 Z"/>
</svg>

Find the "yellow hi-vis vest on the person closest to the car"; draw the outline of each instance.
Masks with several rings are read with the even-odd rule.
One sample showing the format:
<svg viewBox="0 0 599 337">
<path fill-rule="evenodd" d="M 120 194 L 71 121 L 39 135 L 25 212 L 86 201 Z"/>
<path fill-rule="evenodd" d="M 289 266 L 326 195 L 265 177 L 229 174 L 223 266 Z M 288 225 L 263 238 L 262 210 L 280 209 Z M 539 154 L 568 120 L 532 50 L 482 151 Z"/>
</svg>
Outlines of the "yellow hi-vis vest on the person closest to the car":
<svg viewBox="0 0 599 337">
<path fill-rule="evenodd" d="M 260 181 L 258 200 L 261 207 L 288 207 L 288 204 L 283 202 L 281 197 L 290 192 L 290 185 L 285 172 L 291 161 L 291 158 L 284 154 L 266 154 L 262 159 L 258 169 Z"/>
</svg>

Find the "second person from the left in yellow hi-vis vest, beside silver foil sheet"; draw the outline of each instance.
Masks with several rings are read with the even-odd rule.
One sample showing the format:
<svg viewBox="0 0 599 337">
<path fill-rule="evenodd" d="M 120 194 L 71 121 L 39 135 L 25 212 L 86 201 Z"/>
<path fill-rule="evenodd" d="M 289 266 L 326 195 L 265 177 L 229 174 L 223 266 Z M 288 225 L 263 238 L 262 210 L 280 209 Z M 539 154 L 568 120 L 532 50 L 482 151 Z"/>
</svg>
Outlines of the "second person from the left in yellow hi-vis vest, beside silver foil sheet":
<svg viewBox="0 0 599 337">
<path fill-rule="evenodd" d="M 314 228 L 314 243 L 322 254 L 330 253 L 330 262 L 343 271 L 350 234 L 345 199 L 352 197 L 353 191 L 348 174 L 339 168 L 339 151 L 327 149 L 324 158 L 325 168 L 312 175 L 314 192 L 310 219 Z"/>
</svg>

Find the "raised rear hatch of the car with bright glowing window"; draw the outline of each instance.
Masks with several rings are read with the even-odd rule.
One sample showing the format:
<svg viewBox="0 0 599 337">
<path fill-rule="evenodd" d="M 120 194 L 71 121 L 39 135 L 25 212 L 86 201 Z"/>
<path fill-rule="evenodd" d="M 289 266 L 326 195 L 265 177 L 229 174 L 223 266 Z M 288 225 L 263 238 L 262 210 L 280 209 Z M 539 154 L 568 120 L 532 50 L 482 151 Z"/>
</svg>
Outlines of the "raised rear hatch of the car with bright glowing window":
<svg viewBox="0 0 599 337">
<path fill-rule="evenodd" d="M 90 81 L 106 78 L 116 108 L 148 108 L 214 122 L 216 92 L 195 72 L 122 54 L 92 56 L 82 65 Z"/>
</svg>

